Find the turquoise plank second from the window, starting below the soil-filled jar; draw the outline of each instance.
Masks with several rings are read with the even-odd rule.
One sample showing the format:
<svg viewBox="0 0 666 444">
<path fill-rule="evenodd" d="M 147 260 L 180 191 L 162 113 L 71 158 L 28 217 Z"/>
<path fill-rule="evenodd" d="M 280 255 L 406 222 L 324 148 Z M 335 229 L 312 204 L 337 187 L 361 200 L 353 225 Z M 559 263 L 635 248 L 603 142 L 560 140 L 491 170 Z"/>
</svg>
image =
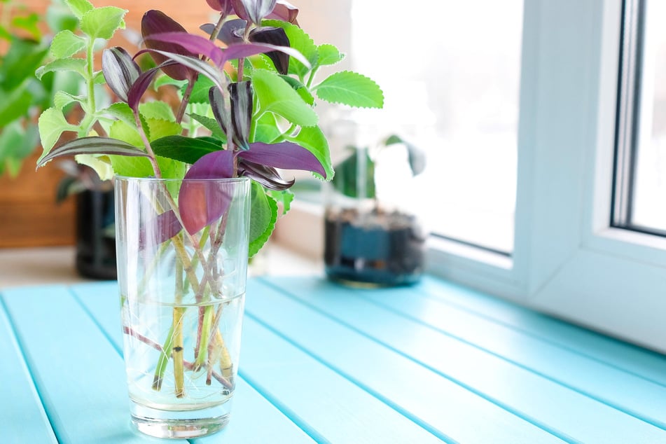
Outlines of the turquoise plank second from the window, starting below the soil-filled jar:
<svg viewBox="0 0 666 444">
<path fill-rule="evenodd" d="M 363 296 L 666 430 L 666 386 L 423 297 L 415 289 Z"/>
</svg>

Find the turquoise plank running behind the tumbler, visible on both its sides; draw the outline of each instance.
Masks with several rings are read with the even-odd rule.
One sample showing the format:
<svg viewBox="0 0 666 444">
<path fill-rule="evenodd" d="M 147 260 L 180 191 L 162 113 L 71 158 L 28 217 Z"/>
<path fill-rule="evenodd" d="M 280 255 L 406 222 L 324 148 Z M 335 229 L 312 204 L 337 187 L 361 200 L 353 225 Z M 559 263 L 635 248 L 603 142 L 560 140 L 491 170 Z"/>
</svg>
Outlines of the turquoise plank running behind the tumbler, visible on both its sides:
<svg viewBox="0 0 666 444">
<path fill-rule="evenodd" d="M 71 291 L 99 328 L 122 354 L 123 335 L 120 328 L 118 286 L 115 282 L 78 284 Z M 243 349 L 241 349 L 243 353 Z M 126 391 L 126 389 L 125 389 Z M 213 436 L 190 440 L 192 443 L 284 443 L 314 442 L 310 436 L 280 412 L 275 405 L 238 378 L 229 425 Z"/>
</svg>

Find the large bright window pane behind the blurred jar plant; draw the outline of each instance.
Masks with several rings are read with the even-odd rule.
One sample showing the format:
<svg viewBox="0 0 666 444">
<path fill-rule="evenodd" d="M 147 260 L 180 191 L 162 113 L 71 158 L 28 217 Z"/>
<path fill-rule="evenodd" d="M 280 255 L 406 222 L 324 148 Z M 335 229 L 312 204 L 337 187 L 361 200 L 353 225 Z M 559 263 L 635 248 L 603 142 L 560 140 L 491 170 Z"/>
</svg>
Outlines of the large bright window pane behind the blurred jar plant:
<svg viewBox="0 0 666 444">
<path fill-rule="evenodd" d="M 405 8 L 417 6 L 354 0 L 354 68 L 386 95 L 384 111 L 354 116 L 359 144 L 397 132 L 426 149 L 419 180 L 433 233 L 510 253 L 522 0 L 424 5 L 424 20 L 398 26 Z"/>
</svg>

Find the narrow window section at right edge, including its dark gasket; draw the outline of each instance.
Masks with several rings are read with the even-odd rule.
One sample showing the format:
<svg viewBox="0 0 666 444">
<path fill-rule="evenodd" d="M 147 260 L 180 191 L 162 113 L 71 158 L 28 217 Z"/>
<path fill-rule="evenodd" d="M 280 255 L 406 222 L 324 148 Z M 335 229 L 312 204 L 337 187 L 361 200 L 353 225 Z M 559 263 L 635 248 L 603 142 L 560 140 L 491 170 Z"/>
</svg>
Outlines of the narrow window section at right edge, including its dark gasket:
<svg viewBox="0 0 666 444">
<path fill-rule="evenodd" d="M 630 1 L 623 19 L 615 226 L 666 234 L 666 14 L 662 1 Z"/>
</svg>

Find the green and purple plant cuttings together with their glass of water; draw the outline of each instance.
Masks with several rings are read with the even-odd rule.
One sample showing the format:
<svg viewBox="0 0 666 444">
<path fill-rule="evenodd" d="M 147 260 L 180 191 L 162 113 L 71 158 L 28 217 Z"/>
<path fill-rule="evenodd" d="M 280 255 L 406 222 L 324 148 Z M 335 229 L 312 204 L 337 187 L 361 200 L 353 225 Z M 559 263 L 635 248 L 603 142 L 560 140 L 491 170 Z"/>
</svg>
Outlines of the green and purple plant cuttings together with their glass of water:
<svg viewBox="0 0 666 444">
<path fill-rule="evenodd" d="M 303 169 L 330 180 L 326 136 L 314 97 L 380 107 L 380 88 L 350 71 L 316 81 L 342 60 L 296 25 L 298 10 L 276 0 L 207 0 L 218 21 L 189 34 L 160 11 L 141 32 L 154 67 L 123 48 L 102 55 L 95 42 L 123 27 L 125 11 L 66 0 L 81 32 L 57 34 L 53 62 L 38 71 L 71 71 L 82 95 L 55 94 L 42 113 L 38 165 L 76 155 L 100 176 L 116 175 L 118 284 L 132 420 L 154 436 L 213 433 L 228 421 L 237 371 L 247 258 L 289 210 Z M 218 41 L 221 41 L 219 43 Z M 77 54 L 83 57 L 75 57 Z M 118 102 L 101 106 L 106 83 Z M 142 100 L 151 88 L 179 92 L 174 108 Z M 83 118 L 68 122 L 62 107 Z M 65 132 L 76 138 L 59 143 Z"/>
</svg>

